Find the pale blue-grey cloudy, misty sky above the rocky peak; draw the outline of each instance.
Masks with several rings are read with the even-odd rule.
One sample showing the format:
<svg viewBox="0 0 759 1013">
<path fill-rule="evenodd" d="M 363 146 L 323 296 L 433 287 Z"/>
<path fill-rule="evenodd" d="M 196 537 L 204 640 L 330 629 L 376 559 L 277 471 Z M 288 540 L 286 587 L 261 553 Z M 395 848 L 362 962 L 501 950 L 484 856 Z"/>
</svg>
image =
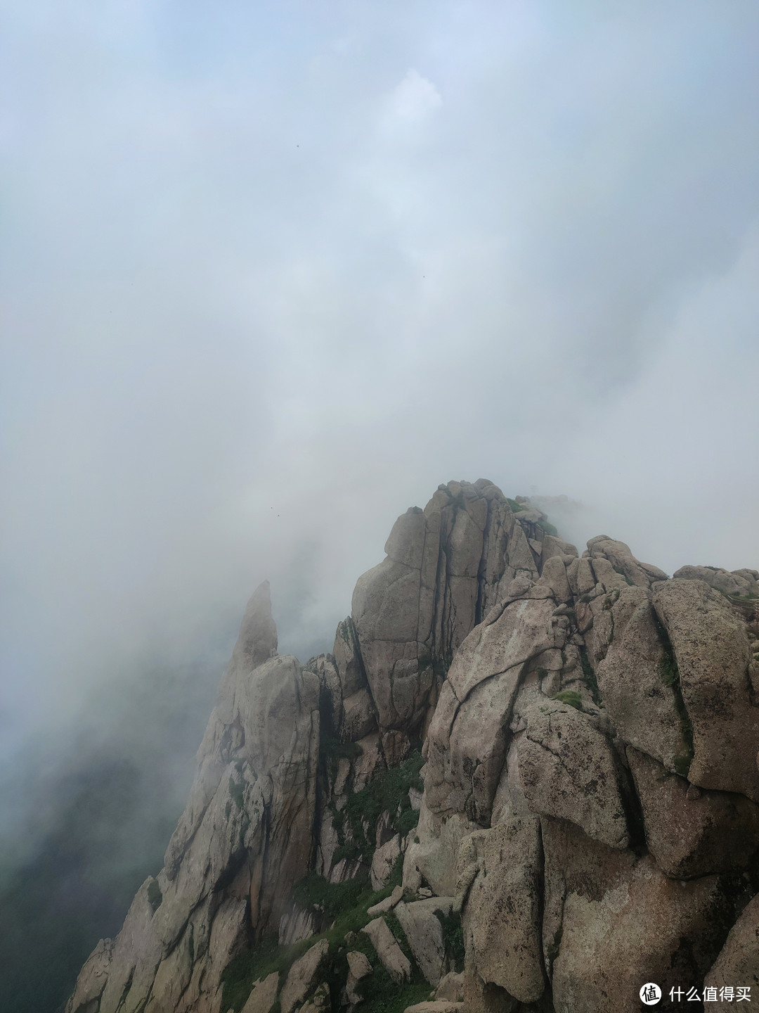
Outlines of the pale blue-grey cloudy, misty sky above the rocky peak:
<svg viewBox="0 0 759 1013">
<path fill-rule="evenodd" d="M 451 478 L 759 567 L 755 0 L 0 11 L 6 759 Z"/>
</svg>

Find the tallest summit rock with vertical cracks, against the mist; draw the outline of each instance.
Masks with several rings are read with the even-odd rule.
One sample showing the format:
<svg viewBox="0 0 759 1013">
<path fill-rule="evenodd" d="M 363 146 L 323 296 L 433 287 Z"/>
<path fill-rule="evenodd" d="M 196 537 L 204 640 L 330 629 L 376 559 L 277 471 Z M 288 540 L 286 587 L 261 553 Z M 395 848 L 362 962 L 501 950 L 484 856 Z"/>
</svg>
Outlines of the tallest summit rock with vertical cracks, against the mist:
<svg viewBox="0 0 759 1013">
<path fill-rule="evenodd" d="M 352 616 L 380 726 L 410 731 L 423 718 L 433 663 L 446 667 L 514 573 L 536 578 L 537 567 L 522 525 L 485 480 L 440 486 L 424 511 L 398 519 L 385 548 L 387 559 L 356 583 Z"/>
</svg>

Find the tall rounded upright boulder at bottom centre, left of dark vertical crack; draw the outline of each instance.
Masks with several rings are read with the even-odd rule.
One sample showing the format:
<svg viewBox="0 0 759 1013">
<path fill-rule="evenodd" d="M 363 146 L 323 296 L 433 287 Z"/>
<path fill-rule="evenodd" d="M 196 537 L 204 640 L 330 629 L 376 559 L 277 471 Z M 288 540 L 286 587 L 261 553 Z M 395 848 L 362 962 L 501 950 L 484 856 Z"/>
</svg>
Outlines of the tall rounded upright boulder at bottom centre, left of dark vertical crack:
<svg viewBox="0 0 759 1013">
<path fill-rule="evenodd" d="M 477 975 L 520 1002 L 534 1002 L 544 988 L 537 819 L 514 817 L 467 838 L 458 871 L 465 875 L 468 870 L 475 877 L 461 921 Z"/>
</svg>

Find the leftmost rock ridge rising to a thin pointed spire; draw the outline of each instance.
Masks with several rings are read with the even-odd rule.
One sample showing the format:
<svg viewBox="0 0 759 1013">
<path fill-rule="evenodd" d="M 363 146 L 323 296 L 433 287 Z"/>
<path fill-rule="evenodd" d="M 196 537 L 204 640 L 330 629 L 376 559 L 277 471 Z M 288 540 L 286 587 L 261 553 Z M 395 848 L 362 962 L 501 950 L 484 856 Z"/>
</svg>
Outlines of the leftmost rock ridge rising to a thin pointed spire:
<svg viewBox="0 0 759 1013">
<path fill-rule="evenodd" d="M 159 1013 L 178 1001 L 177 989 L 182 1009 L 210 1009 L 236 947 L 251 931 L 277 927 L 309 867 L 319 679 L 296 658 L 270 656 L 275 647 L 262 586 L 222 680 L 164 869 L 143 884 L 114 940 L 100 1013 L 135 1013 L 149 997 Z"/>
</svg>

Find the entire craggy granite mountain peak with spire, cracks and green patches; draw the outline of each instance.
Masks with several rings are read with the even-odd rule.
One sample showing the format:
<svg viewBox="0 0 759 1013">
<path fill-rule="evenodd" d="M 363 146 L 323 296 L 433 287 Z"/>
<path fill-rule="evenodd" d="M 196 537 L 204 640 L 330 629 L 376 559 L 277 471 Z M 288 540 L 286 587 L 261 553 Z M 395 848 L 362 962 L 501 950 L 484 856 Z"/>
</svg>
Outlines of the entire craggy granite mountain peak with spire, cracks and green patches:
<svg viewBox="0 0 759 1013">
<path fill-rule="evenodd" d="M 388 977 L 463 1013 L 759 990 L 759 573 L 578 555 L 487 480 L 386 553 L 305 666 L 257 590 L 164 868 L 67 1013 L 353 1013 Z M 339 939 L 338 897 L 364 905 Z"/>
</svg>

